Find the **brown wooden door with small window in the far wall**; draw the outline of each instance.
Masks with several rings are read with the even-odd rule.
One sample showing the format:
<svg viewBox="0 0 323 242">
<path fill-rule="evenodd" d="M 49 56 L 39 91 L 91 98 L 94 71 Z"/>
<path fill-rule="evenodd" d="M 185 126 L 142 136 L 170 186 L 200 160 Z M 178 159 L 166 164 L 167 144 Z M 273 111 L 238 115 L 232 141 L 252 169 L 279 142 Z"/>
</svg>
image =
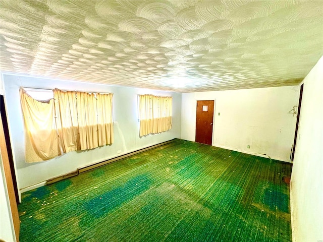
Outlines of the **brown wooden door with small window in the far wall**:
<svg viewBox="0 0 323 242">
<path fill-rule="evenodd" d="M 213 132 L 214 100 L 197 101 L 195 141 L 211 145 Z"/>
</svg>

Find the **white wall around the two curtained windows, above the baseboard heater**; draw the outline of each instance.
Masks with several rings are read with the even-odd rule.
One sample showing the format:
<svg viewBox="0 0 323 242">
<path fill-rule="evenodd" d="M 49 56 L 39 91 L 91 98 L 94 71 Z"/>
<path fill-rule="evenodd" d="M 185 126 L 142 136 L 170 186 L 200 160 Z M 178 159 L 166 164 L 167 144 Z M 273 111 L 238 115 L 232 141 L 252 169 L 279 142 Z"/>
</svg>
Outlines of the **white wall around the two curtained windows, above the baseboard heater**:
<svg viewBox="0 0 323 242">
<path fill-rule="evenodd" d="M 8 107 L 9 129 L 17 169 L 18 189 L 32 186 L 79 167 L 84 167 L 134 150 L 181 137 L 181 94 L 139 88 L 126 88 L 84 82 L 71 82 L 16 75 L 3 75 Z M 24 128 L 20 107 L 19 88 L 59 88 L 87 92 L 112 92 L 115 142 L 87 151 L 69 152 L 49 161 L 25 163 Z M 139 137 L 137 95 L 173 96 L 173 126 L 170 131 Z"/>
</svg>

